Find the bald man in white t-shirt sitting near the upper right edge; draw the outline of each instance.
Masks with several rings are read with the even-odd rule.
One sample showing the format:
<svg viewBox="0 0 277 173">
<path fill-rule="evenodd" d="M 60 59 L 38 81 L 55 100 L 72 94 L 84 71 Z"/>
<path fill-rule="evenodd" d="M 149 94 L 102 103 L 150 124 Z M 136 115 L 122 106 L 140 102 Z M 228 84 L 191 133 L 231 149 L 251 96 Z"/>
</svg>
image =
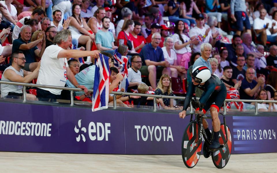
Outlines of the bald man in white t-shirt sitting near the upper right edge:
<svg viewBox="0 0 277 173">
<path fill-rule="evenodd" d="M 276 35 L 272 36 L 273 27 L 272 21 L 266 18 L 266 10 L 263 8 L 260 10 L 260 17 L 254 20 L 253 29 L 258 37 L 258 40 L 262 42 L 263 46 L 266 46 L 266 42 L 276 43 Z"/>
</svg>

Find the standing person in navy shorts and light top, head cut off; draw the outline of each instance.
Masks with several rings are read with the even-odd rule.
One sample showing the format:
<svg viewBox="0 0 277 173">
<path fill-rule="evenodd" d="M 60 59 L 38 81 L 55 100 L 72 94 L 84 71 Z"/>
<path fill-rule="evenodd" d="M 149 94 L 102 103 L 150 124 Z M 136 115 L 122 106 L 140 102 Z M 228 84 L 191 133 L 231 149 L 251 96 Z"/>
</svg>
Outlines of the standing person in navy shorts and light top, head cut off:
<svg viewBox="0 0 277 173">
<path fill-rule="evenodd" d="M 246 14 L 246 5 L 244 0 L 231 0 L 231 19 L 236 25 L 236 34 L 241 35 L 243 27 L 245 27 L 246 32 L 251 35 L 251 25 L 249 18 Z"/>
</svg>

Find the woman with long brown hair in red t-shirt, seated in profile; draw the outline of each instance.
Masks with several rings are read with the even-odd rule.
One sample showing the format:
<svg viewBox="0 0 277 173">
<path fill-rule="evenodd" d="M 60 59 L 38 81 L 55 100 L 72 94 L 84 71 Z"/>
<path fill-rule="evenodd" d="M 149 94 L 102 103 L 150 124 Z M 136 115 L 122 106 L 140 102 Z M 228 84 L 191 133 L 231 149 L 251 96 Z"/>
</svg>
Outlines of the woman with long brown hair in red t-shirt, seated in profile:
<svg viewBox="0 0 277 173">
<path fill-rule="evenodd" d="M 122 30 L 117 36 L 118 43 L 117 45 L 124 44 L 128 46 L 129 52 L 130 53 L 136 53 L 134 49 L 134 44 L 132 40 L 132 34 L 131 32 L 134 30 L 134 22 L 133 20 L 125 20 L 124 25 L 122 27 Z"/>
</svg>

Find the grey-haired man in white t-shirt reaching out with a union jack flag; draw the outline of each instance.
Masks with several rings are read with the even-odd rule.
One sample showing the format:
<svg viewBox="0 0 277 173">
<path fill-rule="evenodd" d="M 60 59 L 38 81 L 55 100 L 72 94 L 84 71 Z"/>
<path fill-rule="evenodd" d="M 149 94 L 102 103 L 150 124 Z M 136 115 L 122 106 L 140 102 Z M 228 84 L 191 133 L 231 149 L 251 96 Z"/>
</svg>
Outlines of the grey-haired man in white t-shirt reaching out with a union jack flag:
<svg viewBox="0 0 277 173">
<path fill-rule="evenodd" d="M 68 67 L 66 58 L 78 57 L 99 57 L 99 51 L 83 51 L 83 50 L 68 50 L 72 44 L 71 32 L 63 29 L 58 32 L 53 40 L 54 45 L 48 46 L 42 55 L 40 71 L 37 84 L 65 86 L 66 78 L 76 87 L 84 89 L 87 93 L 87 88 L 79 85 L 74 77 L 74 74 Z M 48 101 L 50 99 L 61 99 L 60 89 L 38 88 L 37 96 L 40 100 Z"/>
</svg>

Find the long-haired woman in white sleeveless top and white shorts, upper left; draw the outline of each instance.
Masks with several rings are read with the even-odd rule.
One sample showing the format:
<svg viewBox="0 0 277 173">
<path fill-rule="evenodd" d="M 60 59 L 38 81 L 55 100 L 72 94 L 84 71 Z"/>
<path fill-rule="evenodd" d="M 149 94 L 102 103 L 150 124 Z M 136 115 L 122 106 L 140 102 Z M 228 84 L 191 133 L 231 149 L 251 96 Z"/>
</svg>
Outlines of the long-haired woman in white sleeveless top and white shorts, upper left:
<svg viewBox="0 0 277 173">
<path fill-rule="evenodd" d="M 69 30 L 71 31 L 73 39 L 78 40 L 79 44 L 86 45 L 86 50 L 91 50 L 94 34 L 91 33 L 92 31 L 88 27 L 85 19 L 80 17 L 80 12 L 80 6 L 74 4 L 72 6 L 72 19 L 70 21 Z"/>
</svg>

